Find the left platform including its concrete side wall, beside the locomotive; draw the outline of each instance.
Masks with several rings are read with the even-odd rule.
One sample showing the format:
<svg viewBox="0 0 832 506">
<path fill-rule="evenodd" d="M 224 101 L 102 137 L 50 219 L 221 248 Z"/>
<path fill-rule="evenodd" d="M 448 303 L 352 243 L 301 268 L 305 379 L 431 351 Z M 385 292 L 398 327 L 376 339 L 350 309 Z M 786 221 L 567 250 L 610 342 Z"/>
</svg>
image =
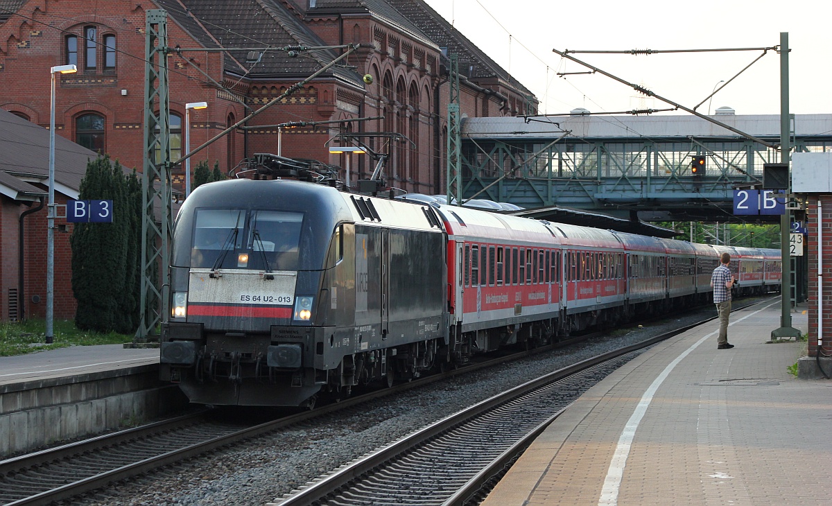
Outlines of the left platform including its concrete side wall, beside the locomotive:
<svg viewBox="0 0 832 506">
<path fill-rule="evenodd" d="M 0 357 L 0 460 L 138 424 L 187 404 L 158 349 L 72 346 Z"/>
</svg>

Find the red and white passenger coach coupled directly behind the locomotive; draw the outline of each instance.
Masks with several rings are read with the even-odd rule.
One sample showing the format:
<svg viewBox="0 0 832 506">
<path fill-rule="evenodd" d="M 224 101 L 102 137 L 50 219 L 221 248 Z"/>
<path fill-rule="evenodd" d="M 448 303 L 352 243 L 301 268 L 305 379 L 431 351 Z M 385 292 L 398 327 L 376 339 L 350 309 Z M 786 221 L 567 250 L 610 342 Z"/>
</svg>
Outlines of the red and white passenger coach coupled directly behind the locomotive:
<svg viewBox="0 0 832 506">
<path fill-rule="evenodd" d="M 448 294 L 459 333 L 481 350 L 517 339 L 513 325 L 560 311 L 559 241 L 552 226 L 516 216 L 440 206 L 448 232 Z M 487 332 L 498 328 L 499 334 Z"/>
</svg>

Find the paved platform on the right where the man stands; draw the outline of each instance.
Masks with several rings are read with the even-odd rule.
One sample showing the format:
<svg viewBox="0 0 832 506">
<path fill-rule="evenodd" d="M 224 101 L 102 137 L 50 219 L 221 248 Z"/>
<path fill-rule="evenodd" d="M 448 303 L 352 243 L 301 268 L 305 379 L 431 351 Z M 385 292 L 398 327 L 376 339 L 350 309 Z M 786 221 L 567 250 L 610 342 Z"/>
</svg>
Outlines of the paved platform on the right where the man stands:
<svg viewBox="0 0 832 506">
<path fill-rule="evenodd" d="M 780 298 L 661 342 L 587 390 L 484 506 L 832 504 L 832 381 L 790 374 Z M 803 308 L 805 309 L 805 308 Z M 805 310 L 792 326 L 804 334 Z"/>
</svg>

